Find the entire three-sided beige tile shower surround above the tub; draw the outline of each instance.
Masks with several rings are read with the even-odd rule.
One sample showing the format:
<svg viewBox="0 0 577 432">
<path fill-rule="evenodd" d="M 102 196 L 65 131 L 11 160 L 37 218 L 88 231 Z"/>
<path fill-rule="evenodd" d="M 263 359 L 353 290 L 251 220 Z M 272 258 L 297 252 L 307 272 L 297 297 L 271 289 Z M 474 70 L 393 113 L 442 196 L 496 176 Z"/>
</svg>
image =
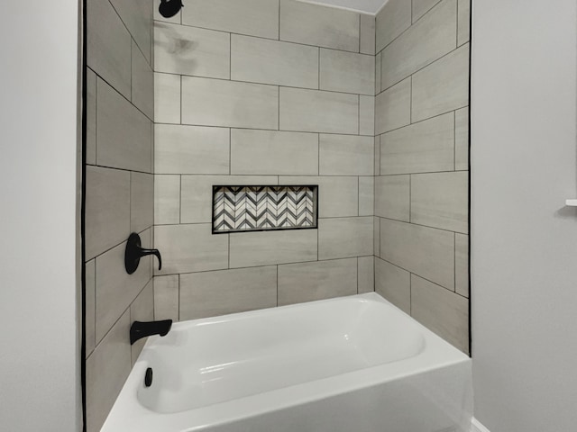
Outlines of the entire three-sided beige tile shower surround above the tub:
<svg viewBox="0 0 577 432">
<path fill-rule="evenodd" d="M 156 7 L 88 0 L 88 430 L 132 320 L 376 289 L 468 352 L 468 2 Z M 318 184 L 318 229 L 212 235 L 215 184 Z M 124 273 L 132 231 L 153 279 Z"/>
</svg>

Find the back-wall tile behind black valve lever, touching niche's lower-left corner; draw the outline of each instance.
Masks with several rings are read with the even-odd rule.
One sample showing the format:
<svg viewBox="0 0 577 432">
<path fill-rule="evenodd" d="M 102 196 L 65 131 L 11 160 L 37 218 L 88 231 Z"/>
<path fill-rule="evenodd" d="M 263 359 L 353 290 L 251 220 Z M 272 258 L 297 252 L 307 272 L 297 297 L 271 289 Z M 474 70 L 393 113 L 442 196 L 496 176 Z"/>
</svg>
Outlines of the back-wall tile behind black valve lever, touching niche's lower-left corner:
<svg viewBox="0 0 577 432">
<path fill-rule="evenodd" d="M 212 224 L 154 227 L 154 247 L 162 254 L 155 275 L 175 275 L 228 267 L 228 235 L 214 236 Z"/>
</svg>

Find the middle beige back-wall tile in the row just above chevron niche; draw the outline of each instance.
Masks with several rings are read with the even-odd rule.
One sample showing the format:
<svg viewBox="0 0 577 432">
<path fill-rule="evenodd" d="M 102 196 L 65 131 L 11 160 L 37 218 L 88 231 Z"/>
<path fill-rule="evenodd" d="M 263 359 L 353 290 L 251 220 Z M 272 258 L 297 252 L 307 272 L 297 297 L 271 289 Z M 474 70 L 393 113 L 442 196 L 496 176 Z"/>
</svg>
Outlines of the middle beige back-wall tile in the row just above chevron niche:
<svg viewBox="0 0 577 432">
<path fill-rule="evenodd" d="M 317 175 L 318 135 L 276 130 L 231 130 L 231 174 Z"/>
</svg>

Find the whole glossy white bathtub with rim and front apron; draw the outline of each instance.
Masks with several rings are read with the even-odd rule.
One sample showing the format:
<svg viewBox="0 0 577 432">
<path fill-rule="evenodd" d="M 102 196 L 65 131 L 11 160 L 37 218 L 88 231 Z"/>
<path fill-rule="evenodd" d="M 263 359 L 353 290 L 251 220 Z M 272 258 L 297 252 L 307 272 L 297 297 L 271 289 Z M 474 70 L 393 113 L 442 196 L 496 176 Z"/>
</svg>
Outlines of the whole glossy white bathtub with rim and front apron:
<svg viewBox="0 0 577 432">
<path fill-rule="evenodd" d="M 471 359 L 368 293 L 175 323 L 102 431 L 468 432 L 471 418 Z"/>
</svg>

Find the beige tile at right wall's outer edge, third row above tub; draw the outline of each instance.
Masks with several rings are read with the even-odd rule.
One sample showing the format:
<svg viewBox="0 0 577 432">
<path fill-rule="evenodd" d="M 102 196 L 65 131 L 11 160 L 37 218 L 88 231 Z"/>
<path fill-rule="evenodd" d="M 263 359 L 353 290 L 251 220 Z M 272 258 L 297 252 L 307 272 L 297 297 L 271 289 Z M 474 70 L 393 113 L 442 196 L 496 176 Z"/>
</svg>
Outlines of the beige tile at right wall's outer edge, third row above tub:
<svg viewBox="0 0 577 432">
<path fill-rule="evenodd" d="M 468 231 L 466 171 L 411 176 L 411 221 L 440 229 Z"/>
</svg>

